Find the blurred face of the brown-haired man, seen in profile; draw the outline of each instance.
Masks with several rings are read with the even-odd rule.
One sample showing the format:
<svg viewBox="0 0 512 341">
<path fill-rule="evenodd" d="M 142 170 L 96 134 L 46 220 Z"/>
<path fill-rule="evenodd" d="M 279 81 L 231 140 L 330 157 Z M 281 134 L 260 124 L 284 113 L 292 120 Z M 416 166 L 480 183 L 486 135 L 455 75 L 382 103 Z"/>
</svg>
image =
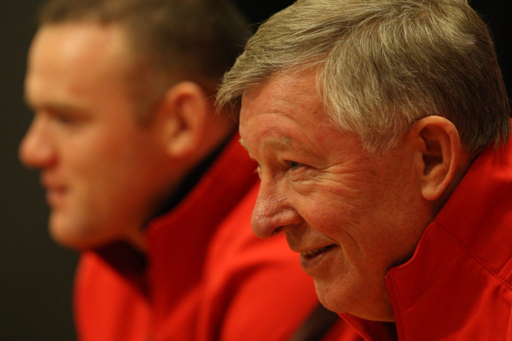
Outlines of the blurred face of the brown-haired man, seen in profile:
<svg viewBox="0 0 512 341">
<path fill-rule="evenodd" d="M 25 92 L 35 116 L 20 158 L 40 169 L 50 231 L 64 245 L 139 238 L 163 190 L 164 150 L 157 128 L 135 120 L 130 67 L 116 26 L 49 25 L 32 42 Z"/>
</svg>

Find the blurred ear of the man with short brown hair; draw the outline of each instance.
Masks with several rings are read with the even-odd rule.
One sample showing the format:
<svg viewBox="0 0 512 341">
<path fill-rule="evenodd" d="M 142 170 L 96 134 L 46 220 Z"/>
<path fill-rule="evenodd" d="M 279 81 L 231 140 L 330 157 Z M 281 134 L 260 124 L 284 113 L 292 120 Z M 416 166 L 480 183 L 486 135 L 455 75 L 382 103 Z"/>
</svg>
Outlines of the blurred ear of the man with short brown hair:
<svg viewBox="0 0 512 341">
<path fill-rule="evenodd" d="M 169 155 L 187 157 L 200 149 L 201 138 L 212 113 L 212 104 L 203 88 L 183 81 L 169 88 L 159 107 L 163 136 Z"/>
</svg>

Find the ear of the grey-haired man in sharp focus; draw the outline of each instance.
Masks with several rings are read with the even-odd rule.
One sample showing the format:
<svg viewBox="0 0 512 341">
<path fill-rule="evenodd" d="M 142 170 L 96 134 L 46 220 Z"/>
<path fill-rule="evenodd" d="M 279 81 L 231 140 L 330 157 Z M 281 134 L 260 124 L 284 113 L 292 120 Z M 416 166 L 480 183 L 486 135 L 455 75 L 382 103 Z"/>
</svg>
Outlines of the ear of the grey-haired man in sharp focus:
<svg viewBox="0 0 512 341">
<path fill-rule="evenodd" d="M 434 201 L 450 185 L 459 165 L 459 132 L 451 121 L 428 116 L 413 124 L 410 138 L 418 142 L 414 163 L 421 195 Z"/>
</svg>

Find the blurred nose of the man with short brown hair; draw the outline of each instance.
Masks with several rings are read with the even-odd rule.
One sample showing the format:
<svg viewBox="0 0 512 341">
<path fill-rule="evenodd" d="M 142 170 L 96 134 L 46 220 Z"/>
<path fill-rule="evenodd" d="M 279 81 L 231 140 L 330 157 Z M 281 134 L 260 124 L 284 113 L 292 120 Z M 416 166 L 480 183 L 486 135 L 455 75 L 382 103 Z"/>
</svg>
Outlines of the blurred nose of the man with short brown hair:
<svg viewBox="0 0 512 341">
<path fill-rule="evenodd" d="M 30 168 L 45 168 L 56 161 L 56 152 L 45 118 L 37 115 L 19 145 L 19 159 Z"/>
</svg>

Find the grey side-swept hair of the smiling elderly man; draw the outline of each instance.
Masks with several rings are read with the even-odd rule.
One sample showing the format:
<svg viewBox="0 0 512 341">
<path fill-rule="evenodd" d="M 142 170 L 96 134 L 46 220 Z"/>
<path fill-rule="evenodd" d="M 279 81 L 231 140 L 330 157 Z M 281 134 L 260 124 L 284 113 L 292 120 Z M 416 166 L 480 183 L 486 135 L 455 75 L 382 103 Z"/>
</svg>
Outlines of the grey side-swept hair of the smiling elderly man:
<svg viewBox="0 0 512 341">
<path fill-rule="evenodd" d="M 508 139 L 494 44 L 466 0 L 298 0 L 249 39 L 217 105 L 312 68 L 335 126 L 356 132 L 370 151 L 385 152 L 429 115 L 452 121 L 473 155 Z"/>
</svg>

